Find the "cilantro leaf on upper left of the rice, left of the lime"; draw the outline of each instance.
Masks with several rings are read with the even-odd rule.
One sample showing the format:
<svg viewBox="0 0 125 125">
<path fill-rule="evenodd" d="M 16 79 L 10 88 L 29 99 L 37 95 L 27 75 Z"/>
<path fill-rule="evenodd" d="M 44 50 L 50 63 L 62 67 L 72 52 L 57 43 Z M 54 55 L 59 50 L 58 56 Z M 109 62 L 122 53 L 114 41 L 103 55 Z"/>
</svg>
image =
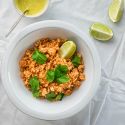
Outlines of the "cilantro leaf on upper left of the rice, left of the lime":
<svg viewBox="0 0 125 125">
<path fill-rule="evenodd" d="M 32 59 L 35 60 L 38 64 L 44 64 L 47 61 L 45 54 L 41 53 L 39 50 L 35 50 Z"/>
</svg>

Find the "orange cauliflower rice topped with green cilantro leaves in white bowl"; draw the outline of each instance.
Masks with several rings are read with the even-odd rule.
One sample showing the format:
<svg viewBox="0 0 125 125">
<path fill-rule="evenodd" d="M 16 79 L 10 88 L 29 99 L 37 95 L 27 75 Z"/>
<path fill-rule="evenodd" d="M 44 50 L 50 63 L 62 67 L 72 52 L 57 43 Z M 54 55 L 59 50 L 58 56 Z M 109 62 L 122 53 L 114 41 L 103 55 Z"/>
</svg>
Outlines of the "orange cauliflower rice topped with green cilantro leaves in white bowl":
<svg viewBox="0 0 125 125">
<path fill-rule="evenodd" d="M 85 80 L 84 62 L 79 52 L 64 59 L 59 48 L 67 40 L 42 38 L 24 53 L 19 61 L 24 85 L 33 96 L 60 101 L 81 86 Z"/>
</svg>

